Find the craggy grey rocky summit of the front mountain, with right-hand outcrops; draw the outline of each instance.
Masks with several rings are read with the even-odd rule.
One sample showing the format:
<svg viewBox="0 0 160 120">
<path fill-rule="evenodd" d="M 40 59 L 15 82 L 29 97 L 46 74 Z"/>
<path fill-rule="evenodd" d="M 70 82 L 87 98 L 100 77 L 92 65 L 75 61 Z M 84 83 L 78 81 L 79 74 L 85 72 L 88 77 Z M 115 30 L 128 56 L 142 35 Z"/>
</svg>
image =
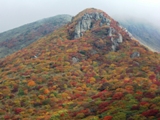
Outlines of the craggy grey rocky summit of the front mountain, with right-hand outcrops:
<svg viewBox="0 0 160 120">
<path fill-rule="evenodd" d="M 105 37 L 110 37 L 110 40 L 112 42 L 112 50 L 116 51 L 118 49 L 119 44 L 123 42 L 123 37 L 121 33 L 118 32 L 120 27 L 116 31 L 116 29 L 112 26 L 115 21 L 103 11 L 97 12 L 96 10 L 94 11 L 94 9 L 92 9 L 91 11 L 92 12 L 84 14 L 82 12 L 82 15 L 79 15 L 81 16 L 80 18 L 78 16 L 73 18 L 72 22 L 75 22 L 76 25 L 74 24 L 75 27 L 74 32 L 72 32 L 72 39 L 83 37 L 83 34 L 87 30 L 94 31 L 97 28 L 101 28 L 103 29 L 102 32 L 105 32 Z"/>
</svg>

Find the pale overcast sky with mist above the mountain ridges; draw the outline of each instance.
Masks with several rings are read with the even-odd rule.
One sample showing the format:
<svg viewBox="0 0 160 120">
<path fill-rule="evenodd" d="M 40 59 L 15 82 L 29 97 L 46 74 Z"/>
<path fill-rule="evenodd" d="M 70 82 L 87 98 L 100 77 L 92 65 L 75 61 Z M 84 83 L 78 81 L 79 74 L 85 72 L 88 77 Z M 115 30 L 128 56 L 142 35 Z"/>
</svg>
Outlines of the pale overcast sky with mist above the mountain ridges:
<svg viewBox="0 0 160 120">
<path fill-rule="evenodd" d="M 0 32 L 92 7 L 114 19 L 134 17 L 160 26 L 160 0 L 0 0 Z"/>
</svg>

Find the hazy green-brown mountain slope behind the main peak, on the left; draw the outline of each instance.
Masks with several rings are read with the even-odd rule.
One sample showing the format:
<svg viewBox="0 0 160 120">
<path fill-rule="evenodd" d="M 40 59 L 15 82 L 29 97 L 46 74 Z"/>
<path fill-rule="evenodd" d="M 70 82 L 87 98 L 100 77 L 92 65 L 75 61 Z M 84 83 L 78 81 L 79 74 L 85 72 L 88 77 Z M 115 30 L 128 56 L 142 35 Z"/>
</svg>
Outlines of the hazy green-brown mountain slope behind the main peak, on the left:
<svg viewBox="0 0 160 120">
<path fill-rule="evenodd" d="M 57 15 L 0 33 L 0 58 L 16 52 L 71 21 L 70 15 Z"/>
</svg>

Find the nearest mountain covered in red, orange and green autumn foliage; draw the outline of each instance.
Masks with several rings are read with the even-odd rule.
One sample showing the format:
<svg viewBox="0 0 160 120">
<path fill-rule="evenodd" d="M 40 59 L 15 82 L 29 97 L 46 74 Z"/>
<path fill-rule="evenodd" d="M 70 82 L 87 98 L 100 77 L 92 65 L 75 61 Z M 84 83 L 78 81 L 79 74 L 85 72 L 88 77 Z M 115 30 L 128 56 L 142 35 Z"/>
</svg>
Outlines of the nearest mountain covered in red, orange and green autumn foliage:
<svg viewBox="0 0 160 120">
<path fill-rule="evenodd" d="M 0 119 L 160 119 L 160 55 L 105 12 L 70 23 L 0 60 Z"/>
</svg>

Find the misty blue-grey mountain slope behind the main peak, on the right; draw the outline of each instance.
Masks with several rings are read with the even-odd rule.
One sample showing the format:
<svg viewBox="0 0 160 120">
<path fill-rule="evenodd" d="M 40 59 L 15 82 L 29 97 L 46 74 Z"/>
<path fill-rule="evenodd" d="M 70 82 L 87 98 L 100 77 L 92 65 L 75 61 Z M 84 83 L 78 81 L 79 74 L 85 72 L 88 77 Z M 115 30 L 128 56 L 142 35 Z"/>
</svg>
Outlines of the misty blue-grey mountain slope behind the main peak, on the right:
<svg viewBox="0 0 160 120">
<path fill-rule="evenodd" d="M 120 20 L 119 22 L 142 44 L 153 51 L 160 52 L 160 29 L 154 27 L 150 23 L 134 19 Z"/>
</svg>

